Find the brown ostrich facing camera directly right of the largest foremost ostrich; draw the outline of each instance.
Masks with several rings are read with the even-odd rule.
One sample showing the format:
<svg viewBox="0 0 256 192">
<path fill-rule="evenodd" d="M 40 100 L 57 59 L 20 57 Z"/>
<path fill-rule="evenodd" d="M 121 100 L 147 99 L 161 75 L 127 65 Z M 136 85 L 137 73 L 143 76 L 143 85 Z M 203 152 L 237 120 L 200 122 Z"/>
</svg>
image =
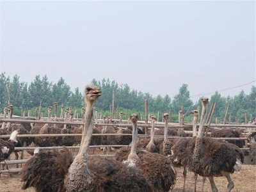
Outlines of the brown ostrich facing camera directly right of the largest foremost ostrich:
<svg viewBox="0 0 256 192">
<path fill-rule="evenodd" d="M 115 154 L 116 160 L 128 164 L 131 167 L 138 167 L 143 175 L 156 191 L 170 191 L 175 186 L 176 172 L 171 161 L 166 156 L 157 153 L 150 153 L 145 150 L 136 150 L 138 140 L 138 115 L 132 114 L 132 143 L 131 147 L 122 147 Z"/>
</svg>

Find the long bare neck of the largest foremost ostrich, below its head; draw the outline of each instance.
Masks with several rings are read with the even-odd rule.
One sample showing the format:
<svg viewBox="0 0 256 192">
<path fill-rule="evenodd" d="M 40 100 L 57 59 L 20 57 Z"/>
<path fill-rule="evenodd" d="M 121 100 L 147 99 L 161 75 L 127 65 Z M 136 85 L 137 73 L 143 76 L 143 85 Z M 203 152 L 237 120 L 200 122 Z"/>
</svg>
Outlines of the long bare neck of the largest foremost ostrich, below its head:
<svg viewBox="0 0 256 192">
<path fill-rule="evenodd" d="M 82 153 L 84 157 L 88 157 L 89 145 L 92 138 L 93 131 L 93 103 L 87 102 L 86 113 L 84 119 L 84 131 L 81 140 L 79 153 Z"/>
</svg>

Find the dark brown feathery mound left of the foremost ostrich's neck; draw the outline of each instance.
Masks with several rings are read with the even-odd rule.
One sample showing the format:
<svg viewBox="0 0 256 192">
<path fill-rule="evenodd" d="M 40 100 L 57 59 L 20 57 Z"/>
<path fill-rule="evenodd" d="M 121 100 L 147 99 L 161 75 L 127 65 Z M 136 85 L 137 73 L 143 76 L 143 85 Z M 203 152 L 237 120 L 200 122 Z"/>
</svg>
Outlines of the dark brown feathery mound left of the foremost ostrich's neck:
<svg viewBox="0 0 256 192">
<path fill-rule="evenodd" d="M 64 178 L 72 162 L 73 155 L 66 147 L 60 151 L 54 149 L 34 152 L 34 156 L 20 171 L 22 189 L 33 187 L 37 192 L 66 191 Z"/>
</svg>

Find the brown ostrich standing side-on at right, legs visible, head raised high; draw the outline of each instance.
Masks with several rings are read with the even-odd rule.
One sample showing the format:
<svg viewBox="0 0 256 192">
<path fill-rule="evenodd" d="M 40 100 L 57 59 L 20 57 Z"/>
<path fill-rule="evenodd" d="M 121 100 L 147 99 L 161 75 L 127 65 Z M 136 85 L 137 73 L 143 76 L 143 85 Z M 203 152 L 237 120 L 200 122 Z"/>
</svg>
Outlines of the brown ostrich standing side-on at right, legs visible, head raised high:
<svg viewBox="0 0 256 192">
<path fill-rule="evenodd" d="M 234 188 L 230 173 L 234 173 L 234 171 L 238 171 L 241 168 L 244 159 L 243 152 L 232 143 L 203 137 L 207 104 L 208 98 L 203 98 L 198 135 L 196 138 L 194 137 L 189 140 L 182 138 L 177 141 L 175 146 L 173 146 L 173 157 L 182 163 L 184 160 L 180 158 L 183 156 L 184 159 L 186 159 L 186 166 L 190 171 L 203 177 L 208 177 L 213 192 L 218 191 L 214 184 L 213 177 L 226 177 L 228 180 L 227 192 L 230 192 L 232 188 Z M 184 148 L 185 144 L 183 144 L 182 141 L 186 143 L 186 148 Z M 183 145 L 183 148 L 179 148 L 179 145 Z M 180 155 L 181 153 L 183 154 Z M 204 190 L 204 188 L 202 190 Z"/>
</svg>

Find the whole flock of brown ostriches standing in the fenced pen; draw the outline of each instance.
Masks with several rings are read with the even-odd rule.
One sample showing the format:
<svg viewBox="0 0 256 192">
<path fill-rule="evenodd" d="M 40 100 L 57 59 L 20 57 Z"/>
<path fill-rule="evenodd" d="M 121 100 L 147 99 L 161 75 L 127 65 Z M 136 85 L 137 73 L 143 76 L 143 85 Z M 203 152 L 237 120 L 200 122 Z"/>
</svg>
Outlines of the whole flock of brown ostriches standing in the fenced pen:
<svg viewBox="0 0 256 192">
<path fill-rule="evenodd" d="M 208 178 L 213 192 L 218 191 L 214 177 L 225 177 L 228 182 L 227 192 L 232 191 L 234 182 L 230 173 L 239 171 L 244 162 L 244 140 L 223 141 L 214 137 L 238 138 L 241 132 L 234 129 L 215 129 L 210 137 L 204 136 L 204 124 L 208 98 L 202 98 L 202 113 L 198 127 L 199 111 L 191 112 L 193 116 L 193 135 L 185 133 L 184 129 L 168 128 L 168 113 L 163 114 L 164 129 L 155 127 L 156 116 L 150 115 L 150 138 L 139 138 L 145 134 L 145 129 L 138 127 L 138 115 L 131 114 L 132 127 L 117 127 L 115 124 L 99 126 L 94 124 L 93 103 L 100 97 L 100 89 L 88 84 L 84 88 L 85 108 L 81 109 L 83 125 L 38 124 L 22 122 L 20 125 L 2 122 L 0 135 L 10 135 L 10 138 L 0 139 L 0 161 L 10 159 L 10 154 L 19 154 L 15 147 L 57 147 L 60 150 L 30 151 L 31 157 L 22 166 L 19 173 L 22 189 L 35 188 L 36 191 L 175 191 L 177 181 L 176 169 L 183 168 L 183 191 L 186 189 L 187 170 L 195 174 L 195 186 L 198 175 L 204 182 Z M 54 109 L 54 121 L 68 122 L 74 115 L 72 109 L 66 109 L 64 118 L 57 118 L 57 103 L 48 108 L 48 120 L 51 120 Z M 62 112 L 61 112 L 62 113 Z M 85 113 L 85 114 L 84 114 Z M 4 108 L 4 116 L 12 119 L 13 106 Z M 120 115 L 122 115 L 120 113 Z M 182 118 L 182 111 L 179 112 Z M 104 123 L 106 116 L 104 118 Z M 28 119 L 28 118 L 27 118 Z M 41 136 L 19 138 L 18 134 L 72 134 L 81 136 Z M 92 136 L 92 134 L 119 134 L 117 136 Z M 120 135 L 130 134 L 130 135 Z M 163 138 L 155 137 L 162 135 Z M 177 138 L 168 138 L 177 136 Z M 178 137 L 180 136 L 180 137 Z M 250 132 L 248 154 L 255 161 L 256 132 Z M 79 152 L 67 146 L 79 145 Z M 90 145 L 127 145 L 115 150 L 113 157 L 89 155 Z M 102 147 L 104 152 L 111 148 Z M 23 158 L 22 154 L 20 158 Z"/>
</svg>

